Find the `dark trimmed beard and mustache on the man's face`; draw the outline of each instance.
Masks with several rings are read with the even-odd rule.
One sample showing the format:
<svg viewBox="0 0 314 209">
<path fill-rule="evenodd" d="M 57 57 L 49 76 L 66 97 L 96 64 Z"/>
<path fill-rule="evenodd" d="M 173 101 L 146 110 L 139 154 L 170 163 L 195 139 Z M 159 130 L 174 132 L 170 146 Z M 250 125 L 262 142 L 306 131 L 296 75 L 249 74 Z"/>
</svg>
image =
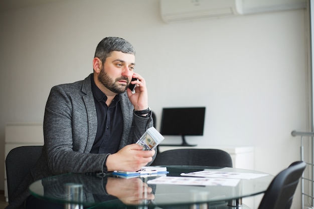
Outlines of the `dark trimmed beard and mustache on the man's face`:
<svg viewBox="0 0 314 209">
<path fill-rule="evenodd" d="M 117 84 L 116 82 L 118 80 L 125 80 L 127 85 L 121 86 L 121 85 Z M 98 76 L 98 81 L 102 85 L 104 85 L 107 89 L 109 89 L 110 91 L 112 91 L 113 93 L 116 93 L 116 94 L 122 94 L 123 92 L 125 92 L 127 87 L 128 87 L 128 84 L 129 84 L 128 78 L 123 77 L 123 76 L 115 79 L 115 81 L 112 81 L 112 79 L 105 72 L 104 67 L 100 70 L 100 73 Z"/>
</svg>

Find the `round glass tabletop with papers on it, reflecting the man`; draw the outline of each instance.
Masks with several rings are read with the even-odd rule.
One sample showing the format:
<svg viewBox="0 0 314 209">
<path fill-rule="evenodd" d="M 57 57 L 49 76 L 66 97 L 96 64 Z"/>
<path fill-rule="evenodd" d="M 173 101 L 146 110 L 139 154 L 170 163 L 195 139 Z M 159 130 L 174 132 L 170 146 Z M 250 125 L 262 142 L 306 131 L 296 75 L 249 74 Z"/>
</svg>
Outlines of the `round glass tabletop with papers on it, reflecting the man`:
<svg viewBox="0 0 314 209">
<path fill-rule="evenodd" d="M 167 166 L 167 176 L 117 177 L 112 174 L 92 176 L 67 173 L 35 181 L 31 193 L 59 203 L 95 205 L 182 205 L 220 202 L 263 193 L 274 176 L 254 170 L 208 167 Z M 210 178 L 183 176 L 182 173 L 202 171 Z M 189 180 L 185 184 L 170 177 Z M 165 178 L 166 177 L 166 178 Z M 193 178 L 193 181 L 190 181 Z M 169 181 L 170 180 L 170 181 Z M 194 184 L 195 181 L 211 181 Z M 169 183 L 170 184 L 167 184 Z"/>
</svg>

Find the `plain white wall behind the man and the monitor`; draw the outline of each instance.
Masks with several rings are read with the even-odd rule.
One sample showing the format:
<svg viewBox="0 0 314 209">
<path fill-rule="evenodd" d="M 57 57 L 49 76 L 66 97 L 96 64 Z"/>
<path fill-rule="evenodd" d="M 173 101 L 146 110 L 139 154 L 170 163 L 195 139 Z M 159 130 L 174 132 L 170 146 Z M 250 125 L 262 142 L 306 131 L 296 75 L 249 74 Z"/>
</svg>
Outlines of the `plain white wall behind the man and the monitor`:
<svg viewBox="0 0 314 209">
<path fill-rule="evenodd" d="M 291 131 L 309 127 L 305 13 L 166 24 L 158 0 L 68 0 L 2 12 L 0 155 L 6 122 L 42 122 L 51 87 L 84 79 L 98 42 L 118 36 L 136 49 L 158 127 L 163 107 L 206 106 L 205 134 L 188 142 L 254 146 L 255 169 L 276 174 L 299 159 Z"/>
</svg>

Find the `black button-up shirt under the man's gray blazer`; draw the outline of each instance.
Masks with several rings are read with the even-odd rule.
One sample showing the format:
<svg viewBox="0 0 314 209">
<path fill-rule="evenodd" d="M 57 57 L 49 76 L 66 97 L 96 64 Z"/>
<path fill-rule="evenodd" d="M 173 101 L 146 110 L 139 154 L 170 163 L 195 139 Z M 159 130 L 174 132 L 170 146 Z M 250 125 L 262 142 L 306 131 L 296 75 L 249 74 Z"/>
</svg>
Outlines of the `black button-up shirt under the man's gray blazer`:
<svg viewBox="0 0 314 209">
<path fill-rule="evenodd" d="M 107 96 L 96 86 L 93 76 L 91 85 L 97 112 L 97 133 L 90 153 L 116 153 L 123 130 L 120 95 L 117 94 L 107 107 Z"/>
</svg>

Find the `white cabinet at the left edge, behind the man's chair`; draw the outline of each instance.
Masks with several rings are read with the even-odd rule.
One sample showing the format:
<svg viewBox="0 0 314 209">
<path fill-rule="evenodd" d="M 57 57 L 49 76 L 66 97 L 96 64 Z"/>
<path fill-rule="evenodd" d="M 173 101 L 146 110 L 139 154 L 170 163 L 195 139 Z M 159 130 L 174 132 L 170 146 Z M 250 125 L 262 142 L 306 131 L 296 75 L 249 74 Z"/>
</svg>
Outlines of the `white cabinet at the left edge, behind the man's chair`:
<svg viewBox="0 0 314 209">
<path fill-rule="evenodd" d="M 18 146 L 43 145 L 42 123 L 7 123 L 5 132 L 5 159 L 11 149 Z M 8 201 L 7 173 L 5 168 L 5 197 Z"/>
</svg>

